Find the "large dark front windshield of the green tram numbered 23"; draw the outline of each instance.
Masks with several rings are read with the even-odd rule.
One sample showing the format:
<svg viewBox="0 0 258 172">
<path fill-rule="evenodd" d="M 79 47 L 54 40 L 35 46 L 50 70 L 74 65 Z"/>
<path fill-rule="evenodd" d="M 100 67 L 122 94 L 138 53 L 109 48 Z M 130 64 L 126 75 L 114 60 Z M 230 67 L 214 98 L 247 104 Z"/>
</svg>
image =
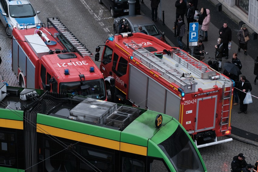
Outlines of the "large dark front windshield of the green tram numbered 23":
<svg viewBox="0 0 258 172">
<path fill-rule="evenodd" d="M 192 142 L 180 126 L 167 140 L 158 144 L 177 172 L 203 172 L 203 165 Z"/>
</svg>

